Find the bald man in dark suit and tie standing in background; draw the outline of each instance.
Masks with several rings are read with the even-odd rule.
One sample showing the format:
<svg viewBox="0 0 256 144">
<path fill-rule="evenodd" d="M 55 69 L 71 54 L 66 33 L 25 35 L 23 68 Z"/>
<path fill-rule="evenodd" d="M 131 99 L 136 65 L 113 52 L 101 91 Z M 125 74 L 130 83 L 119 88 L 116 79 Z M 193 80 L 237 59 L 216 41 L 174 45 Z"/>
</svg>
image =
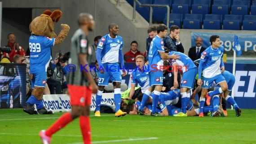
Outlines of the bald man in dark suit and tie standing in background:
<svg viewBox="0 0 256 144">
<path fill-rule="evenodd" d="M 190 47 L 189 57 L 193 61 L 196 59 L 200 59 L 202 52 L 206 49 L 205 47 L 202 47 L 202 44 L 203 44 L 203 39 L 201 37 L 197 37 L 195 39 L 195 46 Z"/>
</svg>

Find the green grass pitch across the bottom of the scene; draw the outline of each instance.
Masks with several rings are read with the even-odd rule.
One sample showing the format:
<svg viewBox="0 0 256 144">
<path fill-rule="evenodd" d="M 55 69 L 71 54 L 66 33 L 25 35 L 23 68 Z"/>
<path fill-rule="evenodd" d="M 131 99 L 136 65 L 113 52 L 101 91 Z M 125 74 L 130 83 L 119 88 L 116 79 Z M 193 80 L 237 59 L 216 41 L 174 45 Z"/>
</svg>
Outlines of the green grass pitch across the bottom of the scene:
<svg viewBox="0 0 256 144">
<path fill-rule="evenodd" d="M 22 109 L 0 110 L 0 144 L 41 144 L 38 133 L 63 113 L 29 115 Z M 256 144 L 256 110 L 242 109 L 240 117 L 152 117 L 114 114 L 94 117 L 93 144 Z M 51 144 L 83 144 L 79 120 L 55 133 Z"/>
</svg>

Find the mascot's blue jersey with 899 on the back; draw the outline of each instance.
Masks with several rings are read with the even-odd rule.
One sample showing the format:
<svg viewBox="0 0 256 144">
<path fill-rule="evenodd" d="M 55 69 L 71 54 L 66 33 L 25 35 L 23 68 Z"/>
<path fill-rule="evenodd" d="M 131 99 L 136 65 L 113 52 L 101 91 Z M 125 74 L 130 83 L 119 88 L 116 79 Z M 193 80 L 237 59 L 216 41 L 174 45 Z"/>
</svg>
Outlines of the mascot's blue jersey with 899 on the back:
<svg viewBox="0 0 256 144">
<path fill-rule="evenodd" d="M 30 73 L 46 72 L 51 60 L 55 38 L 31 35 L 29 37 Z"/>
</svg>

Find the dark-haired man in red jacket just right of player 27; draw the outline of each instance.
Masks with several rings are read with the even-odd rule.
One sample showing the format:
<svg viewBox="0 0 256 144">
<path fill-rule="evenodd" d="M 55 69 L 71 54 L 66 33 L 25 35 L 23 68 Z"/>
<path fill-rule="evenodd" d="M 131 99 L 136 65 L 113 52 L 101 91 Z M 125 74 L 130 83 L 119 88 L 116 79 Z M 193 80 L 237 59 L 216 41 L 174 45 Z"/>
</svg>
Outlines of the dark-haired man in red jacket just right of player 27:
<svg viewBox="0 0 256 144">
<path fill-rule="evenodd" d="M 131 49 L 126 54 L 124 54 L 125 62 L 135 62 L 135 58 L 137 55 L 143 55 L 140 51 L 137 50 L 138 42 L 131 42 Z"/>
</svg>

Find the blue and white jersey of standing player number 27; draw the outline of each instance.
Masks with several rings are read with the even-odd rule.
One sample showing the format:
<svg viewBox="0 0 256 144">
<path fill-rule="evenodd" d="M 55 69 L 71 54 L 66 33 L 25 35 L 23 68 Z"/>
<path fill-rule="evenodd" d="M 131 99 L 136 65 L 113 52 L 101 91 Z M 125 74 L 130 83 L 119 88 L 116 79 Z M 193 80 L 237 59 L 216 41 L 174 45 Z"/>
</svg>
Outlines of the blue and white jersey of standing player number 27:
<svg viewBox="0 0 256 144">
<path fill-rule="evenodd" d="M 118 35 L 111 38 L 109 34 L 106 34 L 99 41 L 97 48 L 102 49 L 102 64 L 118 63 L 119 49 L 123 48 L 123 38 Z"/>
</svg>

